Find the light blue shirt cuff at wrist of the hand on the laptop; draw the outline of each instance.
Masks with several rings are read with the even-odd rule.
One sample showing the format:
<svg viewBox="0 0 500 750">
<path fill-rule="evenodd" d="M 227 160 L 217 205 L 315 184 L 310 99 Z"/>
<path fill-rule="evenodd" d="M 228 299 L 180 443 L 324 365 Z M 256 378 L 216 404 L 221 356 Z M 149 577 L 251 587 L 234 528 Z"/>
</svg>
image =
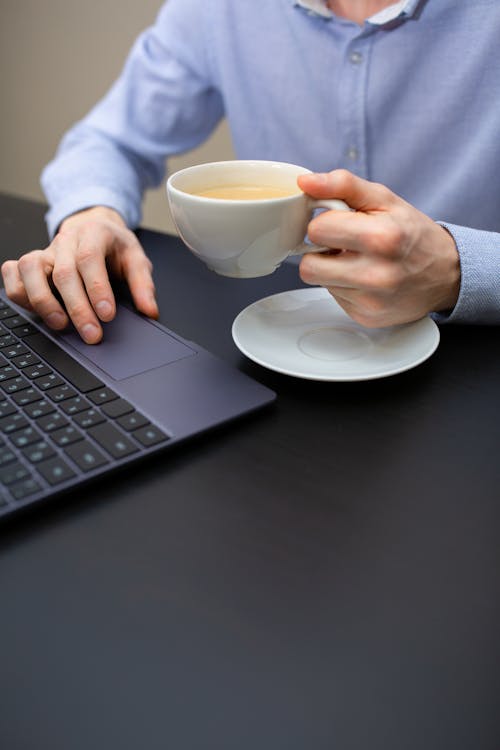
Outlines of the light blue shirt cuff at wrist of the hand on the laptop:
<svg viewBox="0 0 500 750">
<path fill-rule="evenodd" d="M 113 208 L 129 228 L 137 227 L 141 221 L 140 209 L 123 194 L 105 187 L 87 187 L 58 200 L 45 214 L 49 238 L 54 237 L 61 222 L 68 216 L 93 206 Z"/>
</svg>

